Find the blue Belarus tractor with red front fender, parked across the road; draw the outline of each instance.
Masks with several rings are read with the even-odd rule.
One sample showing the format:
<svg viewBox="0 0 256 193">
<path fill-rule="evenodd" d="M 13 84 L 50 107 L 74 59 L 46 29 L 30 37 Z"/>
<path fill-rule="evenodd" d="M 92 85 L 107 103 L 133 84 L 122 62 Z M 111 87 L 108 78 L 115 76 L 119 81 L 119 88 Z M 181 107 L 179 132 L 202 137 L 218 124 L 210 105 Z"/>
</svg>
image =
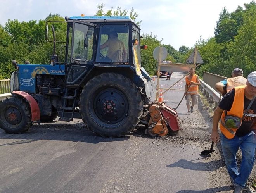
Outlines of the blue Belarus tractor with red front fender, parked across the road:
<svg viewBox="0 0 256 193">
<path fill-rule="evenodd" d="M 12 62 L 17 71 L 11 77 L 12 97 L 0 102 L 0 128 L 21 133 L 33 121 L 40 124 L 59 117 L 66 122 L 82 119 L 100 136 L 129 133 L 151 97 L 152 81 L 140 62 L 140 48 L 146 47 L 140 46 L 140 28 L 130 17 L 65 20 L 65 53 L 56 55 L 55 21 L 48 21 L 46 37 L 54 45 L 50 64 Z M 113 46 L 111 34 L 119 47 Z"/>
</svg>

